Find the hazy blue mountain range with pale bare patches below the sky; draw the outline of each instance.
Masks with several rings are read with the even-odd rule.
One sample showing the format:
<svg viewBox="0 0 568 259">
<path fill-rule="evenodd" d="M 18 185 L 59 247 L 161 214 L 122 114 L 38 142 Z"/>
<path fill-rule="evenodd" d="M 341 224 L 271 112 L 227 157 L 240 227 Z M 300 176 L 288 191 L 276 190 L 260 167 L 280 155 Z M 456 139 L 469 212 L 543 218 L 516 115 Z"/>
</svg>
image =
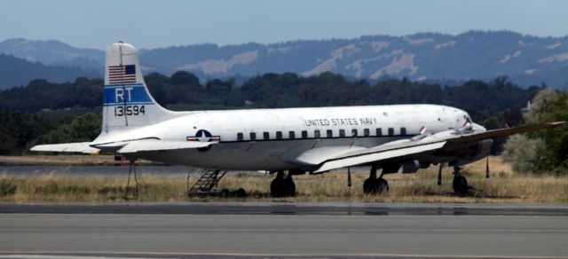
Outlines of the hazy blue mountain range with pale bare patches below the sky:
<svg viewBox="0 0 568 259">
<path fill-rule="evenodd" d="M 5 50 L 44 64 L 84 69 L 100 66 L 101 70 L 103 66 L 103 51 L 76 49 L 55 41 L 9 40 L 0 43 L 0 52 Z M 170 75 L 186 70 L 201 78 L 271 72 L 310 76 L 331 71 L 372 80 L 407 77 L 418 81 L 462 82 L 507 75 L 512 82 L 523 86 L 545 82 L 554 88 L 568 89 L 568 36 L 535 37 L 509 31 L 366 35 L 357 39 L 267 45 L 197 44 L 143 50 L 140 59 L 146 73 Z"/>
</svg>

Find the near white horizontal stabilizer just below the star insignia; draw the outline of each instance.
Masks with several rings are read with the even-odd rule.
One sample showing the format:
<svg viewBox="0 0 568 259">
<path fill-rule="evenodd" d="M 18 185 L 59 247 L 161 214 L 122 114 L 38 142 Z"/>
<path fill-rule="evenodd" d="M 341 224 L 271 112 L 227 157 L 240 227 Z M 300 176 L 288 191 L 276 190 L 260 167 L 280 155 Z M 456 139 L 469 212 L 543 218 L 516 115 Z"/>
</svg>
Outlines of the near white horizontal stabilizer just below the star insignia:
<svg viewBox="0 0 568 259">
<path fill-rule="evenodd" d="M 137 153 L 146 151 L 166 151 L 177 149 L 192 149 L 208 147 L 217 144 L 217 142 L 199 142 L 199 141 L 164 141 L 158 139 L 141 139 L 133 140 L 124 145 L 118 153 Z"/>
</svg>

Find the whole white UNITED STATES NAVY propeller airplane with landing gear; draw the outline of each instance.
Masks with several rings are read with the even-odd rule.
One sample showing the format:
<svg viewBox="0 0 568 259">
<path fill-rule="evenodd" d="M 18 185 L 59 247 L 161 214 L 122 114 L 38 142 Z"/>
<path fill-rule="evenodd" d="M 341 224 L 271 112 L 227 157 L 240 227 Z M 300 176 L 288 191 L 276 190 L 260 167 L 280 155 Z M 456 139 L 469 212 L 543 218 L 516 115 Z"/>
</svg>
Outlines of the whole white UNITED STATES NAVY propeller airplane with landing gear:
<svg viewBox="0 0 568 259">
<path fill-rule="evenodd" d="M 343 106 L 172 112 L 146 88 L 136 49 L 106 49 L 102 131 L 92 142 L 36 145 L 32 151 L 113 152 L 208 169 L 277 172 L 274 196 L 296 192 L 293 175 L 369 166 L 364 191 L 383 192 L 384 174 L 414 173 L 430 164 L 454 167 L 454 190 L 467 192 L 459 166 L 489 154 L 493 137 L 566 122 L 485 130 L 450 106 Z M 377 170 L 381 175 L 377 178 Z M 284 171 L 288 171 L 284 177 Z"/>
</svg>

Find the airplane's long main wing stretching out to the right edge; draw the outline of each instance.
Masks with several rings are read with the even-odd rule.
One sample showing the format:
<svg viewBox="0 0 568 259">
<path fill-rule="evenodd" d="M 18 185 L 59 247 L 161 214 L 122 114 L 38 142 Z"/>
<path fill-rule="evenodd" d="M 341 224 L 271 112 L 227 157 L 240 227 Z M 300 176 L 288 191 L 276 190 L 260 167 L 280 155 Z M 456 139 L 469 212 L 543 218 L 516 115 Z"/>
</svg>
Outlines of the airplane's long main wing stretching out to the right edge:
<svg viewBox="0 0 568 259">
<path fill-rule="evenodd" d="M 314 173 L 325 172 L 331 169 L 364 165 L 373 162 L 399 158 L 408 155 L 419 155 L 435 150 L 444 149 L 448 145 L 460 145 L 493 137 L 503 137 L 528 131 L 543 130 L 566 125 L 568 122 L 550 122 L 537 125 L 521 126 L 509 129 L 487 130 L 475 132 L 472 130 L 447 130 L 420 139 L 403 139 L 383 145 L 359 149 L 327 158 L 319 164 Z"/>
</svg>

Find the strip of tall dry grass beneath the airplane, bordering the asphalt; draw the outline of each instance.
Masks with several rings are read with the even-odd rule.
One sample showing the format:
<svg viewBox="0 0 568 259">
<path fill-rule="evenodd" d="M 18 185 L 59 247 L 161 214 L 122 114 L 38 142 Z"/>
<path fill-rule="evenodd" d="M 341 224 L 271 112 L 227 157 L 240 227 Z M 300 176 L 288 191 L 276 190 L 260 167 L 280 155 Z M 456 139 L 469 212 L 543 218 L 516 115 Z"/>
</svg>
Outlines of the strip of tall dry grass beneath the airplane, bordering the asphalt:
<svg viewBox="0 0 568 259">
<path fill-rule="evenodd" d="M 568 177 L 552 175 L 533 176 L 512 173 L 510 166 L 500 158 L 491 159 L 492 175 L 485 179 L 485 161 L 469 165 L 464 172 L 474 188 L 468 197 L 458 197 L 452 191 L 451 169 L 444 170 L 442 186 L 436 184 L 437 169 L 430 168 L 417 174 L 387 175 L 390 192 L 383 195 L 365 195 L 362 184 L 367 173 L 352 174 L 352 186 L 347 186 L 344 171 L 320 176 L 296 176 L 297 195 L 294 198 L 268 197 L 273 176 L 262 173 L 229 173 L 219 188 L 244 188 L 248 201 L 348 201 L 348 202 L 568 202 Z M 142 201 L 201 200 L 185 196 L 186 175 L 144 174 L 140 168 L 140 197 Z M 198 176 L 190 177 L 190 184 Z M 51 174 L 40 177 L 0 175 L 0 200 L 16 202 L 100 202 L 122 200 L 126 177 L 74 176 Z M 14 186 L 16 186 L 14 188 Z M 133 190 L 133 189 L 130 189 Z M 13 192 L 13 193 L 12 193 Z M 208 198 L 206 200 L 218 200 Z M 227 200 L 241 200 L 229 198 Z"/>
</svg>

